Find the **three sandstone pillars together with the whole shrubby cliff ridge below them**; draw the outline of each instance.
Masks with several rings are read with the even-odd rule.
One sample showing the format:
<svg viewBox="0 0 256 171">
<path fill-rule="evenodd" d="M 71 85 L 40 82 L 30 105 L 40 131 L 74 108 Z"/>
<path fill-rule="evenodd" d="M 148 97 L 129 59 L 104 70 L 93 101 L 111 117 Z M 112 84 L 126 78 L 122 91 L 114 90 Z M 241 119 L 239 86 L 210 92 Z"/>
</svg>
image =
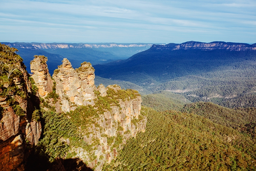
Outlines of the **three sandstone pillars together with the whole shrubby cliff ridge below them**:
<svg viewBox="0 0 256 171">
<path fill-rule="evenodd" d="M 38 57 L 36 57 L 38 58 Z M 46 61 L 36 59 L 31 65 L 39 64 L 47 69 Z M 45 110 L 58 113 L 62 112 L 59 121 L 50 123 L 50 127 L 57 125 L 62 136 L 45 132 L 43 142 L 54 153 L 52 158 L 58 158 L 61 154 L 54 149 L 65 145 L 62 151 L 63 159 L 79 159 L 86 163 L 87 167 L 100 171 L 106 162 L 110 162 L 122 149 L 122 144 L 131 137 L 136 137 L 138 132 L 145 132 L 147 118 L 141 115 L 141 95 L 135 90 L 122 90 L 118 85 L 94 85 L 94 68 L 90 63 L 83 62 L 81 67 L 73 69 L 70 61 L 64 58 L 62 65 L 55 69 L 53 74 L 54 84 L 52 90 L 44 97 Z M 33 71 L 32 71 L 33 69 Z M 40 67 L 31 67 L 34 77 L 39 77 Z M 45 70 L 47 71 L 47 70 Z M 48 74 L 48 71 L 47 73 Z M 40 76 L 41 78 L 45 78 Z M 44 82 L 45 81 L 45 82 Z M 46 89 L 46 80 L 40 82 L 35 79 L 36 85 L 43 85 Z M 42 84 L 44 83 L 44 84 Z M 38 88 L 39 91 L 40 88 Z M 55 94 L 55 95 L 54 95 Z M 55 99 L 54 99 L 55 98 Z M 57 110 L 59 105 L 60 111 Z M 45 120 L 53 120 L 59 114 L 47 114 Z M 66 120 L 65 122 L 62 122 Z M 59 122 L 59 123 L 56 123 Z M 69 128 L 65 123 L 69 123 Z M 51 129 L 47 128 L 46 130 Z M 63 130 L 62 130 L 63 127 Z M 65 132 L 71 129 L 71 132 Z M 54 130 L 53 130 L 54 131 Z M 52 138 L 49 138 L 52 137 Z M 51 144 L 54 139 L 54 144 Z M 61 164 L 61 163 L 60 163 Z"/>
</svg>

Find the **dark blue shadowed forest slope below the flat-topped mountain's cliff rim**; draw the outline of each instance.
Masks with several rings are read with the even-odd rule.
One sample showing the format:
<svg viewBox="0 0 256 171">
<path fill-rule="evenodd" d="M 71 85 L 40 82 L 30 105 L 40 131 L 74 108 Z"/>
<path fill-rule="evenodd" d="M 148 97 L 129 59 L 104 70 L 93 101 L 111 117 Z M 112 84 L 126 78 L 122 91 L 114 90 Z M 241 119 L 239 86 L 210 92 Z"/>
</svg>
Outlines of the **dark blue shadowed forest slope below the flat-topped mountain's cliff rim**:
<svg viewBox="0 0 256 171">
<path fill-rule="evenodd" d="M 147 79 L 163 83 L 176 77 L 198 75 L 219 68 L 234 66 L 244 61 L 254 61 L 255 51 L 168 50 L 151 47 L 127 60 L 96 65 L 95 74 L 104 78 L 130 81 L 142 87 L 151 86 Z M 136 77 L 140 75 L 140 77 Z M 136 78 L 136 79 L 134 79 Z"/>
</svg>

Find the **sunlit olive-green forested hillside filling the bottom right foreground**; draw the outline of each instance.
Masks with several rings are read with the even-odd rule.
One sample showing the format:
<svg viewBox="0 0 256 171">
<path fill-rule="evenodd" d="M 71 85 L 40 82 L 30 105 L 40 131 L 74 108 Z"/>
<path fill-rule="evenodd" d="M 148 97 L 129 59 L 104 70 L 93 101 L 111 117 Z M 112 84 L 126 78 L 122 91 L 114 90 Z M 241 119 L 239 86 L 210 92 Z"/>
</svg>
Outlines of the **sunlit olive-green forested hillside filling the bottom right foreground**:
<svg viewBox="0 0 256 171">
<path fill-rule="evenodd" d="M 103 170 L 256 170 L 249 136 L 194 114 L 142 112 L 148 114 L 146 132 L 130 139 Z"/>
</svg>

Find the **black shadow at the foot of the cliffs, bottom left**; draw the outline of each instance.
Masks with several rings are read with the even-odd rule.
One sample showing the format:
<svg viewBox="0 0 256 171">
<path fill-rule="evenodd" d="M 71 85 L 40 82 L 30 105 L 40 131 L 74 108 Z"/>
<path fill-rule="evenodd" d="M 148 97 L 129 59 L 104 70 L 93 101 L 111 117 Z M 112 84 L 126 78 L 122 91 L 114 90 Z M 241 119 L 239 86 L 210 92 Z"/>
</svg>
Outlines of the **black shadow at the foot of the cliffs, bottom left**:
<svg viewBox="0 0 256 171">
<path fill-rule="evenodd" d="M 93 171 L 78 158 L 55 159 L 49 162 L 48 156 L 40 149 L 33 150 L 25 164 L 25 171 Z"/>
</svg>

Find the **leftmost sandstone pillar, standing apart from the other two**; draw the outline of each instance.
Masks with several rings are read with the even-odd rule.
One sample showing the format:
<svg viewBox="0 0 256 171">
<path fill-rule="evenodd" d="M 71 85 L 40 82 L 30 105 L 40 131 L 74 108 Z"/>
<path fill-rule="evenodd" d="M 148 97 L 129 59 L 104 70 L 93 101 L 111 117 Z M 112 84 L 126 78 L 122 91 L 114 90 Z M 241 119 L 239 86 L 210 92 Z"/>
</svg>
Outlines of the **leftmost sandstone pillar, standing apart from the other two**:
<svg viewBox="0 0 256 171">
<path fill-rule="evenodd" d="M 53 87 L 53 80 L 46 64 L 47 57 L 42 55 L 34 57 L 34 60 L 30 62 L 30 70 L 33 73 L 31 77 L 37 85 L 39 96 L 45 98 L 48 93 L 52 92 Z"/>
</svg>

